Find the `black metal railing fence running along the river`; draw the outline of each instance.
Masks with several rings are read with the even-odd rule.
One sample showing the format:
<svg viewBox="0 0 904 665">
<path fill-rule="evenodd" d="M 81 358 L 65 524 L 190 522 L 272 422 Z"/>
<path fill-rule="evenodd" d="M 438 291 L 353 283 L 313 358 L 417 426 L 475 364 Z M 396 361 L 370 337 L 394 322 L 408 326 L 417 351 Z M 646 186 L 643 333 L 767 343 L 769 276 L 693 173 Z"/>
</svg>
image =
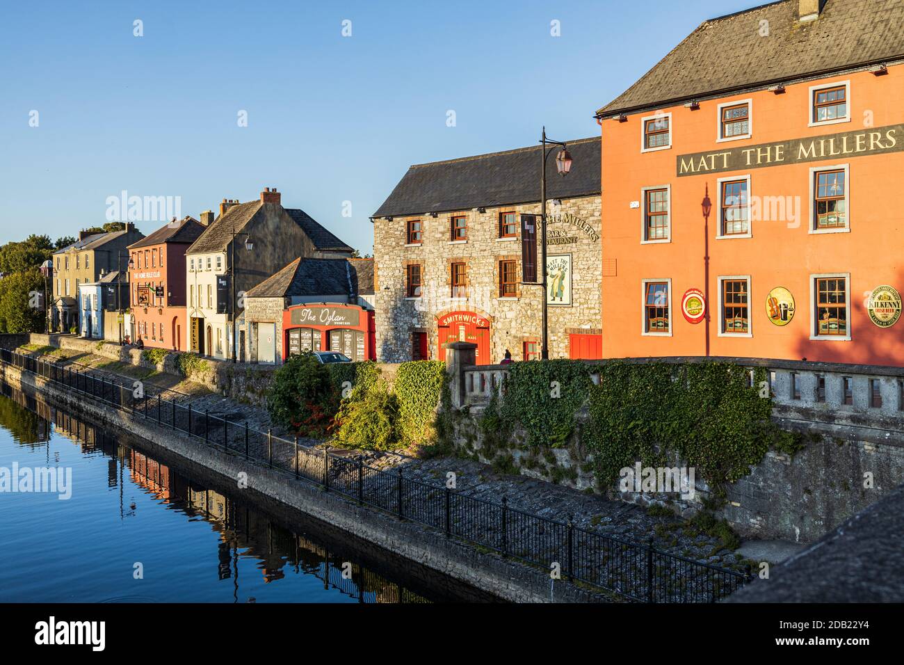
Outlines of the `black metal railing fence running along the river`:
<svg viewBox="0 0 904 665">
<path fill-rule="evenodd" d="M 501 503 L 477 499 L 440 485 L 414 480 L 401 468 L 379 470 L 325 449 L 308 448 L 272 432 L 251 429 L 206 411 L 166 400 L 136 396 L 115 380 L 72 371 L 33 356 L 0 348 L 0 361 L 159 427 L 187 432 L 223 451 L 314 482 L 360 505 L 381 508 L 402 519 L 446 533 L 529 564 L 561 578 L 589 584 L 645 603 L 714 603 L 749 580 L 737 571 L 676 556 L 647 544 L 606 536 L 541 518 Z"/>
</svg>

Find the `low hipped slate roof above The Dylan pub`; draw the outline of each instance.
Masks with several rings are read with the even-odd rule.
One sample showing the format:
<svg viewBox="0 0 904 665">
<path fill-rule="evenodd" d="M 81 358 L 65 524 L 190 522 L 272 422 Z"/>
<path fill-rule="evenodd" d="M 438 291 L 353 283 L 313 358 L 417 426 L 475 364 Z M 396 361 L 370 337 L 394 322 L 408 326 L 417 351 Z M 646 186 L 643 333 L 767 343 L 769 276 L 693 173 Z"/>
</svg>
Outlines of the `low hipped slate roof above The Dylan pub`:
<svg viewBox="0 0 904 665">
<path fill-rule="evenodd" d="M 366 274 L 366 269 L 363 270 Z M 345 259 L 298 258 L 245 293 L 246 298 L 358 295 L 358 271 Z M 371 268 L 371 292 L 373 270 Z"/>
</svg>

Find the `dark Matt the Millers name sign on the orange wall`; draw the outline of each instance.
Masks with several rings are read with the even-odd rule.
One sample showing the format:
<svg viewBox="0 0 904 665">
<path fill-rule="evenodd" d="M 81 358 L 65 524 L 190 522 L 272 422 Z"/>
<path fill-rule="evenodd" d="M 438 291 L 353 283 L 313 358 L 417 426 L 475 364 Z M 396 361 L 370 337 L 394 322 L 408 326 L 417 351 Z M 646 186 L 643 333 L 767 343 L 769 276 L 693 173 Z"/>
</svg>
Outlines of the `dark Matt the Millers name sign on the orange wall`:
<svg viewBox="0 0 904 665">
<path fill-rule="evenodd" d="M 676 161 L 678 176 L 683 177 L 902 151 L 904 124 L 679 155 Z"/>
</svg>

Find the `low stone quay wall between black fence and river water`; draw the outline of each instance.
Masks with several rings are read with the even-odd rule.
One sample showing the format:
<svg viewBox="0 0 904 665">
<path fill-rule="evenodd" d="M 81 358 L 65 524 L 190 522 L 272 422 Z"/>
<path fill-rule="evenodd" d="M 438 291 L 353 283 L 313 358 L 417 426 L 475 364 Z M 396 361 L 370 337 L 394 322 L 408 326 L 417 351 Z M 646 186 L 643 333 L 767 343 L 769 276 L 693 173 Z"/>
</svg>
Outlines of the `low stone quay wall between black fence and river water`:
<svg viewBox="0 0 904 665">
<path fill-rule="evenodd" d="M 512 602 L 598 603 L 614 598 L 597 591 L 553 580 L 547 570 L 524 565 L 511 558 L 480 551 L 474 546 L 446 537 L 434 529 L 392 518 L 378 509 L 359 506 L 336 492 L 300 482 L 284 472 L 243 459 L 240 454 L 217 450 L 190 438 L 184 432 L 165 430 L 153 419 L 128 413 L 85 398 L 47 379 L 23 372 L 14 366 L 0 367 L 0 378 L 13 387 L 41 391 L 48 401 L 61 408 L 84 413 L 113 431 L 130 432 L 198 464 L 224 482 L 237 483 L 242 491 L 257 493 L 289 508 L 314 516 L 327 524 L 373 543 L 410 561 L 476 586 L 486 593 Z"/>
</svg>

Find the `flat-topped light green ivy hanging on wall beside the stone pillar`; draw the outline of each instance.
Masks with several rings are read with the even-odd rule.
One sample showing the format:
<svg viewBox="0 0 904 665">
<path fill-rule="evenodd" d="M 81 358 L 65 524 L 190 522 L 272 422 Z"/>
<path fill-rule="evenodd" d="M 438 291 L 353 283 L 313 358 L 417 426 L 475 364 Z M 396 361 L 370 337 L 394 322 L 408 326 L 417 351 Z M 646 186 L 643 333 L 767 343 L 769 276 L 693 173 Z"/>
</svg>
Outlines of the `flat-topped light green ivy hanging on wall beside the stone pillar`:
<svg viewBox="0 0 904 665">
<path fill-rule="evenodd" d="M 399 435 L 406 445 L 436 439 L 436 418 L 446 365 L 438 360 L 402 363 L 395 380 L 399 403 Z"/>
</svg>

